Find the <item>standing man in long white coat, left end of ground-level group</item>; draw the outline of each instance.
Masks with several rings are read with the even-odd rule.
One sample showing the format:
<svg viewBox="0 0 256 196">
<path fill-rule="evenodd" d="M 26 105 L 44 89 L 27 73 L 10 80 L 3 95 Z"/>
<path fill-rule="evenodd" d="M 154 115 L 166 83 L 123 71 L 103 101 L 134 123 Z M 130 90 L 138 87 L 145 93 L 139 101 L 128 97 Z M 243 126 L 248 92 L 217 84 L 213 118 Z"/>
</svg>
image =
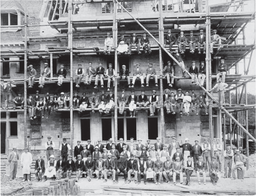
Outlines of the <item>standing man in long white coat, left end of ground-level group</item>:
<svg viewBox="0 0 256 196">
<path fill-rule="evenodd" d="M 25 148 L 24 150 L 25 152 L 21 154 L 21 167 L 23 174 L 22 182 L 24 182 L 25 180 L 30 182 L 30 166 L 32 164 L 32 155 L 29 152 L 28 148 Z"/>
</svg>

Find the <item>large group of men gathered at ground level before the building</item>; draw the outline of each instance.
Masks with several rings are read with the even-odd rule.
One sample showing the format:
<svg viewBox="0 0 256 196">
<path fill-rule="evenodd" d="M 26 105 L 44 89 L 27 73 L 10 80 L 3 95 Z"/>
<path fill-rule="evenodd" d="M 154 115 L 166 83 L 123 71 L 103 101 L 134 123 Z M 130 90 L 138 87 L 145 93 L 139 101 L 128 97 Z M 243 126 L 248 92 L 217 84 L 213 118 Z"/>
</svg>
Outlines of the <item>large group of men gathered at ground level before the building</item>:
<svg viewBox="0 0 256 196">
<path fill-rule="evenodd" d="M 185 185 L 190 185 L 190 176 L 195 171 L 197 174 L 197 181 L 201 184 L 200 174 L 203 175 L 204 185 L 206 184 L 206 172 L 209 171 L 209 176 L 213 185 L 216 185 L 219 177 L 219 172 L 222 172 L 221 157 L 223 146 L 217 138 L 213 144 L 214 156 L 211 156 L 211 145 L 205 139 L 202 146 L 195 141 L 192 146 L 189 139 L 185 138 L 184 144 L 179 144 L 176 138 L 173 137 L 172 141 L 166 145 L 161 143 L 160 138 L 156 138 L 156 143 L 153 145 L 150 140 L 142 144 L 142 139 L 138 139 L 135 144 L 134 138 L 130 138 L 130 143 L 124 143 L 123 138 L 119 139 L 119 143 L 115 144 L 113 139 L 109 139 L 106 146 L 102 144 L 101 140 L 97 141 L 95 147 L 91 144 L 91 140 L 87 140 L 87 145 L 81 145 L 81 141 L 77 141 L 74 148 L 74 158 L 70 154 L 70 146 L 67 139 L 63 138 L 63 143 L 59 147 L 60 156 L 59 160 L 54 160 L 53 149 L 54 142 L 51 136 L 48 136 L 46 142 L 46 157 L 48 166 L 46 168 L 45 162 L 41 155 L 35 164 L 35 175 L 37 181 L 44 181 L 47 178 L 61 179 L 62 177 L 70 177 L 73 172 L 76 174 L 76 181 L 79 181 L 81 175 L 87 176 L 90 182 L 93 175 L 97 179 L 104 179 L 107 182 L 108 175 L 112 175 L 113 183 L 118 183 L 118 176 L 120 173 L 124 174 L 124 182 L 131 182 L 131 174 L 134 174 L 134 182 L 141 183 L 143 179 L 146 184 L 148 179 L 154 179 L 156 185 L 163 183 L 163 180 L 170 183 L 173 180 L 176 185 L 177 177 L 180 177 L 180 183 L 183 184 L 183 172 L 186 176 Z M 182 148 L 182 151 L 180 150 Z M 240 154 L 239 150 L 234 152 L 229 144 L 223 153 L 224 157 L 224 177 L 231 177 L 232 180 L 236 179 L 235 171 L 241 169 L 242 181 L 245 174 L 244 164 L 247 162 L 248 157 Z M 234 157 L 234 165 L 232 166 L 232 157 Z M 16 178 L 17 161 L 19 154 L 17 147 L 13 147 L 13 152 L 8 156 L 10 162 L 10 180 Z M 21 155 L 22 174 L 24 179 L 30 181 L 30 166 L 32 163 L 32 155 L 25 148 L 25 152 Z M 207 165 L 208 164 L 208 165 Z M 229 170 L 227 171 L 227 167 Z M 158 179 L 157 179 L 158 177 Z M 127 181 L 128 180 L 128 181 Z"/>
</svg>

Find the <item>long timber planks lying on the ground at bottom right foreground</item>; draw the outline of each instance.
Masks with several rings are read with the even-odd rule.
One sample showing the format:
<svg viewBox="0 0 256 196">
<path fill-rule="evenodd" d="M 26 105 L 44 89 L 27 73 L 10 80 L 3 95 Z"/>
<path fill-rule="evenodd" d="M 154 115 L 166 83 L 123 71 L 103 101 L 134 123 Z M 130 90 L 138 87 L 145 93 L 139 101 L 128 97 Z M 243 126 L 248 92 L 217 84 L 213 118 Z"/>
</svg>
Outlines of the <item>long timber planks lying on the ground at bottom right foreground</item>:
<svg viewBox="0 0 256 196">
<path fill-rule="evenodd" d="M 178 187 L 181 187 L 178 188 Z M 215 195 L 248 195 L 250 191 L 239 190 L 202 190 L 190 188 L 185 185 L 171 185 L 171 188 L 125 188 L 125 187 L 103 187 L 105 194 L 119 195 L 195 195 L 195 194 L 215 194 Z"/>
</svg>

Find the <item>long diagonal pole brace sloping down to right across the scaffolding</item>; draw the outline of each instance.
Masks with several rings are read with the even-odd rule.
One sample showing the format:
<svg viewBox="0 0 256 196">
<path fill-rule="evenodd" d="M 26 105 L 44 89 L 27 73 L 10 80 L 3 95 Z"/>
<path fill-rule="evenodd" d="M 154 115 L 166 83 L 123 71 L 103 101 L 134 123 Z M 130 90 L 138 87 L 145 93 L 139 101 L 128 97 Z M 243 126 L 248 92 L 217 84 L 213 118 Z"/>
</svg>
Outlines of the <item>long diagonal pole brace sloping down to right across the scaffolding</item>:
<svg viewBox="0 0 256 196">
<path fill-rule="evenodd" d="M 164 52 L 166 52 L 167 55 L 169 55 L 169 56 L 172 58 L 172 60 L 173 60 L 178 66 L 180 66 L 180 63 L 165 49 L 165 47 L 163 47 L 163 45 L 162 45 L 145 27 L 143 27 L 143 25 L 140 24 L 140 22 L 139 22 L 137 19 L 135 19 L 135 17 L 133 17 L 132 14 L 130 14 L 129 11 L 128 11 L 126 8 L 124 8 L 124 6 L 122 6 L 121 3 L 118 2 L 118 0 L 113 0 L 113 1 L 115 1 L 116 3 L 118 3 L 118 5 L 120 5 L 120 6 L 122 7 L 122 9 L 123 9 L 124 11 L 126 11 L 126 13 L 129 14 L 129 16 L 132 17 L 132 19 L 134 19 L 135 22 L 137 22 L 137 24 L 140 25 L 140 27 L 142 27 L 143 30 L 145 30 L 145 31 L 151 36 L 151 38 L 154 39 L 154 41 L 157 42 L 157 44 L 159 45 L 159 47 L 161 47 L 161 49 L 164 50 Z M 181 66 L 180 66 L 180 67 L 181 67 Z M 188 71 L 186 71 L 186 74 L 188 74 L 189 77 L 192 77 L 191 74 L 190 74 Z M 243 130 L 243 132 L 244 132 L 246 135 L 248 135 L 249 138 L 250 138 L 251 140 L 253 140 L 253 141 L 256 143 L 256 139 L 243 127 L 243 125 L 241 125 L 224 107 L 222 107 L 221 104 L 204 88 L 204 86 L 202 86 L 202 85 L 199 85 L 199 86 L 200 86 L 200 88 L 201 88 L 203 91 L 205 91 L 205 93 L 211 98 L 211 100 L 213 100 L 215 103 L 217 103 L 217 105 L 221 108 L 221 110 L 223 110 L 223 111 L 235 122 L 235 124 L 237 124 L 237 125 Z"/>
</svg>

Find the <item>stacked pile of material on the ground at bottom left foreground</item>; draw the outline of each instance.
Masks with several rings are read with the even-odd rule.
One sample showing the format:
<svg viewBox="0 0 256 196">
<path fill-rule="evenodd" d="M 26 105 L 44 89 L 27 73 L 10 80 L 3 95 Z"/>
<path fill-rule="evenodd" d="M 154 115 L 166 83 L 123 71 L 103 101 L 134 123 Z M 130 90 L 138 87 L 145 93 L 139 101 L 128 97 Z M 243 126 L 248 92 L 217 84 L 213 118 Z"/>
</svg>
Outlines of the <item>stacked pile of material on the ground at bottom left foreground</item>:
<svg viewBox="0 0 256 196">
<path fill-rule="evenodd" d="M 33 187 L 33 195 L 78 195 L 80 187 L 75 180 L 56 180 L 50 182 L 48 187 Z"/>
</svg>

